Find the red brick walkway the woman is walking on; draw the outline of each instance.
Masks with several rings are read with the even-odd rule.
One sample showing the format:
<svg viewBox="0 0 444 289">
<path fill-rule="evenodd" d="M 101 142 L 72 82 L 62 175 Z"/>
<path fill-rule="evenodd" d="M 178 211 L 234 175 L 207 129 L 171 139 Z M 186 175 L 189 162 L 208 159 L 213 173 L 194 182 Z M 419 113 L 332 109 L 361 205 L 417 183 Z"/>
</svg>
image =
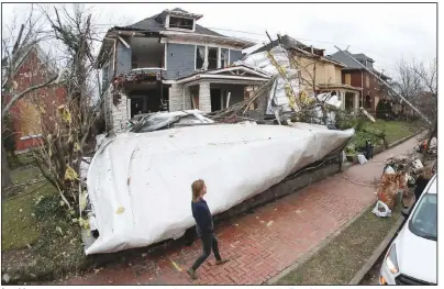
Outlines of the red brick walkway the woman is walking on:
<svg viewBox="0 0 444 289">
<path fill-rule="evenodd" d="M 69 285 L 260 285 L 318 246 L 375 201 L 373 182 L 390 155 L 411 151 L 412 138 L 377 155 L 366 165 L 317 182 L 254 213 L 217 227 L 220 251 L 231 262 L 214 266 L 214 257 L 191 281 L 187 268 L 201 253 L 200 241 L 163 255 L 143 254 L 123 264 L 87 273 Z M 211 193 L 211 192 L 209 192 Z"/>
</svg>

